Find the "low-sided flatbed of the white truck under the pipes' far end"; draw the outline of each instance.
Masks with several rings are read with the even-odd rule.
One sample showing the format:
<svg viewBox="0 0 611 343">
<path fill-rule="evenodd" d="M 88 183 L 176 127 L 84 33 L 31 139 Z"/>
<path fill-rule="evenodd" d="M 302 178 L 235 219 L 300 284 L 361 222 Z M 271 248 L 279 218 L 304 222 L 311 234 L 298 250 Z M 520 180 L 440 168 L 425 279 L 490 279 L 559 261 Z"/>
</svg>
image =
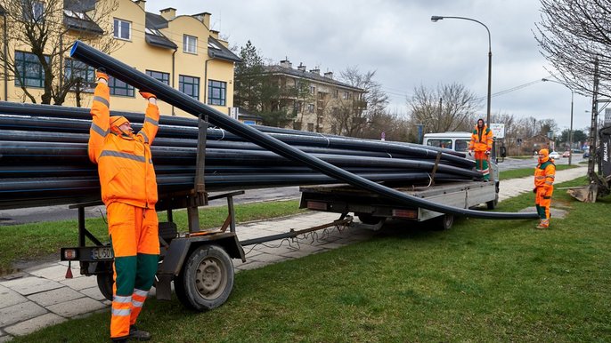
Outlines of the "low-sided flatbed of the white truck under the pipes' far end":
<svg viewBox="0 0 611 343">
<path fill-rule="evenodd" d="M 499 201 L 499 181 L 457 181 L 436 185 L 395 187 L 408 195 L 436 203 L 470 209 L 485 203 L 493 210 Z M 300 207 L 314 211 L 330 211 L 361 220 L 362 226 L 377 230 L 387 219 L 432 220 L 438 228 L 450 228 L 452 214 L 430 211 L 418 206 L 398 205 L 387 198 L 349 185 L 300 187 Z"/>
</svg>

